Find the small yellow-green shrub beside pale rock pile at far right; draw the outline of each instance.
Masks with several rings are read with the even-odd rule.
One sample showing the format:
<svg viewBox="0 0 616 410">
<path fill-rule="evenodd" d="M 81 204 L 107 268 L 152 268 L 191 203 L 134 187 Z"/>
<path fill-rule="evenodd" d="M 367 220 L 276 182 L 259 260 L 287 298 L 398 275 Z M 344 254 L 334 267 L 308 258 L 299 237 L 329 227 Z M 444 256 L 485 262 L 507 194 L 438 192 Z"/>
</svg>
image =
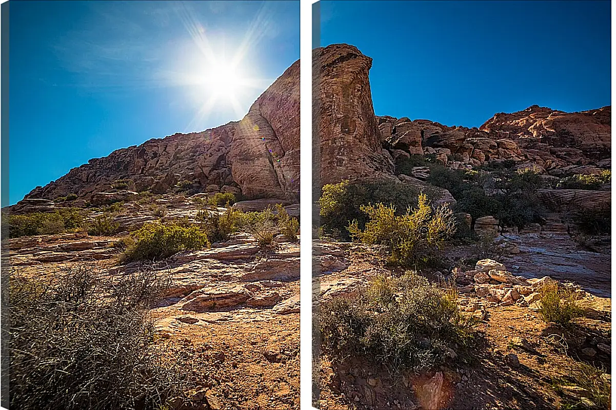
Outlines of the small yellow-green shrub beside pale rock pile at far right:
<svg viewBox="0 0 616 410">
<path fill-rule="evenodd" d="M 558 283 L 546 283 L 541 286 L 540 293 L 539 313 L 546 322 L 569 326 L 570 321 L 583 315 L 570 289 Z"/>
</svg>

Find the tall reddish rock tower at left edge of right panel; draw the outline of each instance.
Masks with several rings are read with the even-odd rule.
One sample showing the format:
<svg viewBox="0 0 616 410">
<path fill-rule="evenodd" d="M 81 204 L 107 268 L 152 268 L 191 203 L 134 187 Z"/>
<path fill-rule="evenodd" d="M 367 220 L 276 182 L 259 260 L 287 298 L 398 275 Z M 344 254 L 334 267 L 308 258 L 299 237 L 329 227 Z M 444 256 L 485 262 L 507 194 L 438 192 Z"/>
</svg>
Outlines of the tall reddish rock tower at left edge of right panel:
<svg viewBox="0 0 616 410">
<path fill-rule="evenodd" d="M 313 121 L 321 185 L 392 175 L 372 106 L 371 66 L 370 57 L 348 44 L 313 50 Z"/>
</svg>

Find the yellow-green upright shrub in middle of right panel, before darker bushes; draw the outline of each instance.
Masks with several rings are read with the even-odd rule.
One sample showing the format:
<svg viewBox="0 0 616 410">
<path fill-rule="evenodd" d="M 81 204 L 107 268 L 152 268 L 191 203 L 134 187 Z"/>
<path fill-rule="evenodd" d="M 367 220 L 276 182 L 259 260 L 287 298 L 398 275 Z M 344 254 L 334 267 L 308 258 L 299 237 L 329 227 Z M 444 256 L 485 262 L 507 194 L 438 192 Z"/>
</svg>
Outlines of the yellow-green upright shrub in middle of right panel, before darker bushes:
<svg viewBox="0 0 616 410">
<path fill-rule="evenodd" d="M 368 214 L 365 229 L 357 220 L 349 225 L 351 236 L 363 243 L 383 244 L 391 251 L 390 262 L 405 267 L 425 266 L 436 262 L 444 240 L 455 233 L 455 219 L 450 209 L 436 210 L 428 204 L 428 196 L 419 195 L 418 205 L 403 215 L 395 215 L 392 206 L 363 205 Z"/>
</svg>

